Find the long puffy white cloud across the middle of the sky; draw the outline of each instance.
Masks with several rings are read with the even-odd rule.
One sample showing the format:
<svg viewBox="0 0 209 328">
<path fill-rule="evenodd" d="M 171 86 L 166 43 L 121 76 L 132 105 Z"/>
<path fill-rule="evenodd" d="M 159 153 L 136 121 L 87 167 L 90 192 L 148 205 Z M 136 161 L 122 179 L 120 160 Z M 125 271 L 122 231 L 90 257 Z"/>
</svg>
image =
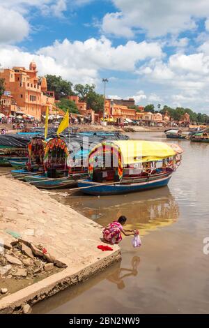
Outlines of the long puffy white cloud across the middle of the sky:
<svg viewBox="0 0 209 328">
<path fill-rule="evenodd" d="M 125 45 L 113 47 L 111 41 L 101 37 L 88 39 L 84 42 L 56 41 L 49 47 L 43 47 L 38 54 L 52 57 L 64 67 L 100 70 L 134 71 L 140 61 L 153 57 L 162 57 L 158 43 L 136 43 L 129 41 Z"/>
</svg>

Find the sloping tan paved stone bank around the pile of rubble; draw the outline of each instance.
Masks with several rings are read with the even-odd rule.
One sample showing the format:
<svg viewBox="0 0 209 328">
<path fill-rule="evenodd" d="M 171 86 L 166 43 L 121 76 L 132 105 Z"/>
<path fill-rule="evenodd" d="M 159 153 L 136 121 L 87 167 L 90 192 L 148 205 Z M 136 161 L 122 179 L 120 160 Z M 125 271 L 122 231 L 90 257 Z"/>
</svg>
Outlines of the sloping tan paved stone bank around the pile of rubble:
<svg viewBox="0 0 209 328">
<path fill-rule="evenodd" d="M 9 243 L 11 236 L 6 231 L 13 231 L 29 243 L 41 244 L 67 266 L 24 289 L 8 293 L 0 300 L 0 313 L 21 313 L 25 302 L 33 305 L 121 259 L 118 246 L 107 252 L 97 248 L 102 244 L 102 227 L 97 223 L 33 186 L 6 177 L 0 177 L 0 184 L 1 241 Z"/>
</svg>

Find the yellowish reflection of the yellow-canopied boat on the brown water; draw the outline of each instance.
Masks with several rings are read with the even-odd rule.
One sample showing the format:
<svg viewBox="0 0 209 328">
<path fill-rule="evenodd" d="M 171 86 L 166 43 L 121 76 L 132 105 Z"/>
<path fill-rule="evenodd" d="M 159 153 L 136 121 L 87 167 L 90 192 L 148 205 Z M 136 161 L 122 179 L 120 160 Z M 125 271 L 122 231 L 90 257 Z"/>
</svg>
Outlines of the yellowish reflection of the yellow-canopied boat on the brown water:
<svg viewBox="0 0 209 328">
<path fill-rule="evenodd" d="M 64 202 L 68 204 L 69 199 L 64 198 Z M 178 203 L 168 187 L 100 198 L 77 194 L 70 197 L 70 205 L 102 226 L 125 215 L 127 229 L 137 228 L 142 235 L 175 223 L 179 216 Z"/>
</svg>

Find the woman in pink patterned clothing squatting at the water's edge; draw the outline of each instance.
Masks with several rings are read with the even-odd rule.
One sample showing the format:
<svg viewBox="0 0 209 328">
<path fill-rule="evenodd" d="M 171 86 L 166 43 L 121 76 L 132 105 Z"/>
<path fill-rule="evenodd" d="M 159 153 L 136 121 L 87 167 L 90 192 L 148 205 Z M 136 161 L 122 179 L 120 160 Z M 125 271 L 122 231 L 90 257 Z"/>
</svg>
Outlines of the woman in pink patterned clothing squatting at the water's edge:
<svg viewBox="0 0 209 328">
<path fill-rule="evenodd" d="M 132 236 L 137 234 L 137 230 L 125 230 L 123 225 L 125 225 L 127 218 L 125 216 L 120 216 L 118 221 L 109 223 L 106 228 L 103 230 L 103 239 L 106 243 L 109 244 L 118 244 L 122 240 L 122 234 L 125 236 Z"/>
</svg>

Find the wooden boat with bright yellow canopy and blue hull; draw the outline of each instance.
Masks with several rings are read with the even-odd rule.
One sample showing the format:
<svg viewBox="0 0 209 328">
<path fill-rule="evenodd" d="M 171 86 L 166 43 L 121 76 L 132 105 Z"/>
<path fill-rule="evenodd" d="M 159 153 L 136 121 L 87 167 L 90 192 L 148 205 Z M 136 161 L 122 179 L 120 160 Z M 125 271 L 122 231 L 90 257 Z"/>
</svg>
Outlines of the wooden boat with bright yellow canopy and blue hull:
<svg viewBox="0 0 209 328">
<path fill-rule="evenodd" d="M 180 165 L 177 144 L 139 140 L 102 142 L 88 156 L 88 179 L 78 181 L 83 193 L 115 195 L 167 186 Z"/>
</svg>

